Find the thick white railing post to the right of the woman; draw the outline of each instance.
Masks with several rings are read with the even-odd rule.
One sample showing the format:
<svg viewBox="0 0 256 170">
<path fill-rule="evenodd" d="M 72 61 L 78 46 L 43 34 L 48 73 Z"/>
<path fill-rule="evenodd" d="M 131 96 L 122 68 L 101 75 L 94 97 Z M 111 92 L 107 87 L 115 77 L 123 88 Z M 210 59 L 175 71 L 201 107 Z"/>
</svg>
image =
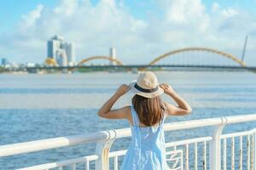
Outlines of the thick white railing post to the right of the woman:
<svg viewBox="0 0 256 170">
<path fill-rule="evenodd" d="M 221 117 L 222 123 L 212 127 L 212 140 L 210 141 L 210 170 L 221 169 L 221 134 L 226 125 L 226 118 Z"/>
</svg>

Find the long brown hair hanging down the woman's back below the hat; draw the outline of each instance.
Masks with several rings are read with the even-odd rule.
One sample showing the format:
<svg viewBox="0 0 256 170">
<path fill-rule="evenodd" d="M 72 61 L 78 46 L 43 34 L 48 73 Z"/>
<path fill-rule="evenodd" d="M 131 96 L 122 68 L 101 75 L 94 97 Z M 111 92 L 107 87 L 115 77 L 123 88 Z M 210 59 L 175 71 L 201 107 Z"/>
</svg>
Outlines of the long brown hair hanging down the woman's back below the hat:
<svg viewBox="0 0 256 170">
<path fill-rule="evenodd" d="M 160 96 L 145 98 L 136 94 L 131 99 L 131 103 L 137 112 L 140 122 L 149 127 L 160 122 L 165 111 L 165 106 L 162 104 Z"/>
</svg>

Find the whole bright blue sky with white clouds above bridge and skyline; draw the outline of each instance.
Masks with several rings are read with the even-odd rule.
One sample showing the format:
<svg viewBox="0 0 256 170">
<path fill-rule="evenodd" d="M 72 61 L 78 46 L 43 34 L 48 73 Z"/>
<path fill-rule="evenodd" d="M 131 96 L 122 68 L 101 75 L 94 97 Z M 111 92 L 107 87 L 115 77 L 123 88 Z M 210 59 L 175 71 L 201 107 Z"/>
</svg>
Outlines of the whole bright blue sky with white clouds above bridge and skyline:
<svg viewBox="0 0 256 170">
<path fill-rule="evenodd" d="M 126 63 L 202 45 L 239 55 L 247 34 L 247 55 L 256 53 L 255 0 L 8 0 L 0 22 L 0 58 L 16 62 L 44 61 L 55 34 L 76 43 L 78 60 L 110 46 Z"/>
</svg>

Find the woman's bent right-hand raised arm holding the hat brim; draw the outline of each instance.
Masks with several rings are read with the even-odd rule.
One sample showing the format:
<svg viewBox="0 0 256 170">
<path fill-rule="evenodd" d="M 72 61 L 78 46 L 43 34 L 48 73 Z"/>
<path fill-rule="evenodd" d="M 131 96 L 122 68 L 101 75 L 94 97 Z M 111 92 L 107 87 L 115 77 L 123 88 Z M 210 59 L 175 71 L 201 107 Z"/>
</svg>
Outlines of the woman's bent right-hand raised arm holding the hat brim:
<svg viewBox="0 0 256 170">
<path fill-rule="evenodd" d="M 191 113 L 192 108 L 190 105 L 182 97 L 180 97 L 169 84 L 160 84 L 160 88 L 163 88 L 165 94 L 169 95 L 177 103 L 177 106 L 171 105 L 167 102 L 164 103 L 166 105 L 166 112 L 168 115 L 183 116 Z"/>
</svg>

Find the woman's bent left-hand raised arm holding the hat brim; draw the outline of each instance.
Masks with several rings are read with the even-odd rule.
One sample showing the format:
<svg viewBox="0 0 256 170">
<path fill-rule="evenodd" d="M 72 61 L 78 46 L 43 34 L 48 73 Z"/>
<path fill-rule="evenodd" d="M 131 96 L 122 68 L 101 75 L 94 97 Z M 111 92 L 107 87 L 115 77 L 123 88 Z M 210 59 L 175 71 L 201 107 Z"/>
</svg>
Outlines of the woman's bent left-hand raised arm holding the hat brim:
<svg viewBox="0 0 256 170">
<path fill-rule="evenodd" d="M 113 104 L 124 94 L 130 90 L 130 87 L 126 84 L 122 84 L 116 92 L 108 99 L 102 108 L 97 112 L 98 116 L 108 118 L 108 119 L 127 119 L 130 111 L 129 106 L 125 106 L 120 109 L 111 110 Z"/>
</svg>

